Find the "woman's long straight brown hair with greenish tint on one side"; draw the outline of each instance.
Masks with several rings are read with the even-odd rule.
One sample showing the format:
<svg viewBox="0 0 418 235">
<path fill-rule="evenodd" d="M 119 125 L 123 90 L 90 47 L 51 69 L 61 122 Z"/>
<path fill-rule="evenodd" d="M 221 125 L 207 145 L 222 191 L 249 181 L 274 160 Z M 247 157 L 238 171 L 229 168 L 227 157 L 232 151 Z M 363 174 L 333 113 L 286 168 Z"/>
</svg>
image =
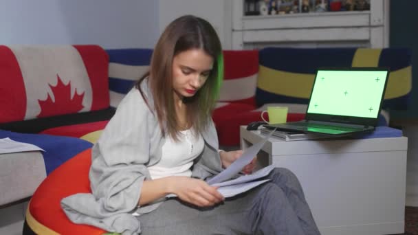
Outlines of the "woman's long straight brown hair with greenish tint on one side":
<svg viewBox="0 0 418 235">
<path fill-rule="evenodd" d="M 148 84 L 154 100 L 155 114 L 163 135 L 170 135 L 177 140 L 180 131 L 173 98 L 173 58 L 189 49 L 203 49 L 211 56 L 214 65 L 205 84 L 191 98 L 185 98 L 187 105 L 187 123 L 193 131 L 201 132 L 210 122 L 210 116 L 219 97 L 219 89 L 223 79 L 223 56 L 221 42 L 214 28 L 208 21 L 196 16 L 181 16 L 171 22 L 153 51 L 149 71 L 137 82 L 148 78 Z"/>
</svg>

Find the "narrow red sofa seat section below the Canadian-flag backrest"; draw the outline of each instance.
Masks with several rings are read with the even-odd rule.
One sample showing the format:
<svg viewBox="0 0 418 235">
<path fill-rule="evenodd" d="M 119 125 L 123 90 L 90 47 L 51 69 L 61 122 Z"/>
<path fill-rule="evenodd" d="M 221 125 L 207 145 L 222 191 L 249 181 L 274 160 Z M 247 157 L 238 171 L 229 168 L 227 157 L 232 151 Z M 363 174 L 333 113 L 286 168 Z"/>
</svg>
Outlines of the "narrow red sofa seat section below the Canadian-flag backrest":
<svg viewBox="0 0 418 235">
<path fill-rule="evenodd" d="M 104 127 L 107 125 L 107 122 L 109 122 L 109 120 L 100 122 L 89 122 L 83 124 L 74 124 L 68 126 L 58 126 L 46 129 L 45 131 L 42 131 L 41 134 L 64 135 L 79 138 L 88 133 L 104 129 Z"/>
</svg>

